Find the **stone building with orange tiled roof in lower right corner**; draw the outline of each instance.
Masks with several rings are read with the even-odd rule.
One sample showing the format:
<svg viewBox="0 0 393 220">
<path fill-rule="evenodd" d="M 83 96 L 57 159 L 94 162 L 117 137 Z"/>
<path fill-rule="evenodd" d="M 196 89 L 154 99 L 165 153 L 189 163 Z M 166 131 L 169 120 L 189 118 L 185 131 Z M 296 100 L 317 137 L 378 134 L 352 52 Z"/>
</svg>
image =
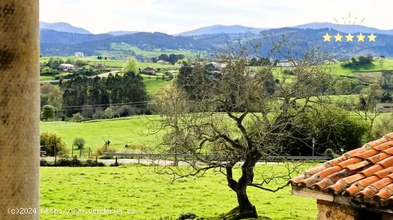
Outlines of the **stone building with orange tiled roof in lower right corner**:
<svg viewBox="0 0 393 220">
<path fill-rule="evenodd" d="M 319 220 L 393 220 L 393 133 L 291 179 L 317 199 Z"/>
</svg>

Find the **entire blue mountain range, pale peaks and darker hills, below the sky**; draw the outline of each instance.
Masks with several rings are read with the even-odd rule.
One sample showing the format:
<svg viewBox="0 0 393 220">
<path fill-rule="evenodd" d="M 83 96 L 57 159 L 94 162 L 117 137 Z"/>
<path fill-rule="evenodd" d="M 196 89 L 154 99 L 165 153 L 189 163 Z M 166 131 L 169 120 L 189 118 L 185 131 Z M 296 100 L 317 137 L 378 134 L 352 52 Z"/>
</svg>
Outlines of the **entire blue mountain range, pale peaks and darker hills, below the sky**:
<svg viewBox="0 0 393 220">
<path fill-rule="evenodd" d="M 112 31 L 104 34 L 91 34 L 84 28 L 67 23 L 41 23 L 41 53 L 44 56 L 71 56 L 76 51 L 86 56 L 105 55 L 114 58 L 136 56 L 144 59 L 154 53 L 197 54 L 203 51 L 212 54 L 235 39 L 251 36 L 252 41 L 264 41 L 269 46 L 266 36 L 279 38 L 288 36 L 309 43 L 323 43 L 326 33 L 342 35 L 347 33 L 374 33 L 377 42 L 359 43 L 324 43 L 323 47 L 334 51 L 347 51 L 352 55 L 372 53 L 375 56 L 393 56 L 393 30 L 379 30 L 366 26 L 339 25 L 334 23 L 307 23 L 285 28 L 252 28 L 247 26 L 214 25 L 186 31 L 175 35 L 136 31 Z M 266 48 L 265 48 L 266 49 Z M 261 53 L 264 53 L 263 50 Z"/>
</svg>

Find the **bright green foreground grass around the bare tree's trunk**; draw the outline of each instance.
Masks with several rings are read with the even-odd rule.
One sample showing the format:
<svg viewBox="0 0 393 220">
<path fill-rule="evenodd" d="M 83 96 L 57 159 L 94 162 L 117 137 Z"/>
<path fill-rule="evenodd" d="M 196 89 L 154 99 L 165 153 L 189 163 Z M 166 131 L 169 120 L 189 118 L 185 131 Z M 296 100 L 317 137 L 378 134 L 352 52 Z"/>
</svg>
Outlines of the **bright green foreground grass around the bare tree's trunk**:
<svg viewBox="0 0 393 220">
<path fill-rule="evenodd" d="M 276 165 L 256 169 L 261 172 L 271 166 Z M 41 209 L 135 209 L 130 216 L 41 214 L 41 219 L 176 219 L 181 212 L 189 211 L 211 217 L 237 206 L 236 195 L 227 187 L 225 177 L 213 172 L 171 182 L 169 176 L 156 174 L 149 166 L 41 167 L 40 178 Z M 316 219 L 315 200 L 293 196 L 290 187 L 276 193 L 249 187 L 248 192 L 260 216 Z"/>
</svg>

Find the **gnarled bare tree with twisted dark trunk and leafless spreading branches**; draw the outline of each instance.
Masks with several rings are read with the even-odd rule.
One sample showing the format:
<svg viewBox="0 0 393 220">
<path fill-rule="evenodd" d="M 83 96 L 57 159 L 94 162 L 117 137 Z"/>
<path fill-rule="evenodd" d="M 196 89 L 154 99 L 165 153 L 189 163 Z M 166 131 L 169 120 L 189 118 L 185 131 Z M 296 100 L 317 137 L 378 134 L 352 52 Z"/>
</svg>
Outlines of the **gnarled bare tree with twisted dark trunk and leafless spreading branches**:
<svg viewBox="0 0 393 220">
<path fill-rule="evenodd" d="M 295 140 L 293 131 L 302 126 L 295 121 L 323 105 L 329 88 L 329 68 L 323 65 L 324 55 L 318 49 L 300 52 L 282 38 L 272 42 L 269 56 L 287 60 L 290 67 L 249 67 L 249 56 L 259 49 L 260 45 L 244 41 L 229 44 L 217 56 L 222 68 L 184 68 L 176 84 L 161 91 L 154 103 L 161 112 L 154 124 L 156 132 L 166 132 L 157 150 L 164 152 L 162 159 L 175 157 L 175 164 L 187 164 L 157 169 L 174 179 L 202 175 L 209 169 L 224 174 L 239 204 L 227 214 L 228 219 L 257 217 L 247 187 L 277 192 L 297 174 L 297 165 L 289 164 L 284 173 L 264 172 L 260 181 L 254 181 L 257 162 L 286 155 L 284 143 Z M 195 157 L 190 160 L 181 154 Z M 236 164 L 241 166 L 238 179 L 234 177 Z M 275 188 L 268 187 L 272 182 Z"/>
</svg>

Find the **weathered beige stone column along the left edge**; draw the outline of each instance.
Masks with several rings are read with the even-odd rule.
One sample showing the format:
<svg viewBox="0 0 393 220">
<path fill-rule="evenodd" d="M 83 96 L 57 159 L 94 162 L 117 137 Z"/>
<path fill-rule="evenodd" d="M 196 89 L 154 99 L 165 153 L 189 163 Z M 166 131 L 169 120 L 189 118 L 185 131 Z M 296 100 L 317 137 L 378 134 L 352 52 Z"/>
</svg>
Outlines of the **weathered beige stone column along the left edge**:
<svg viewBox="0 0 393 220">
<path fill-rule="evenodd" d="M 0 219 L 39 219 L 39 0 L 0 1 Z"/>
</svg>

